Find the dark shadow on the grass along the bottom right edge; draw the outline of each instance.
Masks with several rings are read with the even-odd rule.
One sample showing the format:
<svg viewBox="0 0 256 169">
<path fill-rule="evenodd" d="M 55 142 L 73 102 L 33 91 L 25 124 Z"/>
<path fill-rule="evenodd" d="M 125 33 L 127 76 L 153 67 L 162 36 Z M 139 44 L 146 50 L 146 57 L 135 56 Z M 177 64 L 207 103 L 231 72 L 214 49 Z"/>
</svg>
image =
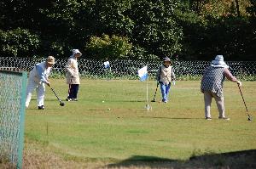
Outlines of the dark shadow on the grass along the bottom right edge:
<svg viewBox="0 0 256 169">
<path fill-rule="evenodd" d="M 155 156 L 134 155 L 125 161 L 109 164 L 106 168 L 256 168 L 256 149 L 221 154 L 193 155 L 188 161 Z"/>
</svg>

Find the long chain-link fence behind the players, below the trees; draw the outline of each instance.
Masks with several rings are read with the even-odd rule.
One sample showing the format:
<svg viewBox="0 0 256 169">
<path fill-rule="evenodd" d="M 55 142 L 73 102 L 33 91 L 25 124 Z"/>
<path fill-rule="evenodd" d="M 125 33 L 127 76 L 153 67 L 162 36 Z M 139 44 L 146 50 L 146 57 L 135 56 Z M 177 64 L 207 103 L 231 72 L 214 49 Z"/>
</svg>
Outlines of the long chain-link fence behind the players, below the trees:
<svg viewBox="0 0 256 169">
<path fill-rule="evenodd" d="M 0 57 L 0 69 L 2 70 L 32 70 L 33 66 L 43 61 L 37 58 L 9 58 Z M 67 59 L 56 59 L 52 76 L 64 77 Z M 110 69 L 105 69 L 103 60 L 79 59 L 80 76 L 87 78 L 111 78 L 111 79 L 137 79 L 137 70 L 148 65 L 151 78 L 161 65 L 160 61 L 144 60 L 109 60 Z M 227 61 L 230 71 L 241 80 L 256 81 L 256 61 Z M 204 70 L 211 63 L 209 61 L 173 61 L 177 80 L 199 80 Z"/>
</svg>

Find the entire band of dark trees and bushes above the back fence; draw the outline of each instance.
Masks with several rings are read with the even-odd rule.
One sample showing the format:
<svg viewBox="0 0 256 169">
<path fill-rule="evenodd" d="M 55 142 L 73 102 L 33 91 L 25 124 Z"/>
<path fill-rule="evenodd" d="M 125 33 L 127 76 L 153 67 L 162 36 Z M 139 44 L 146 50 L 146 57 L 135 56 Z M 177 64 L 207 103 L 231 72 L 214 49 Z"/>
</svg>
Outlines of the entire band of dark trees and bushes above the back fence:
<svg viewBox="0 0 256 169">
<path fill-rule="evenodd" d="M 224 54 L 252 60 L 256 52 L 255 0 L 1 0 L 0 5 L 1 56 L 67 57 L 79 48 L 97 59 Z"/>
</svg>

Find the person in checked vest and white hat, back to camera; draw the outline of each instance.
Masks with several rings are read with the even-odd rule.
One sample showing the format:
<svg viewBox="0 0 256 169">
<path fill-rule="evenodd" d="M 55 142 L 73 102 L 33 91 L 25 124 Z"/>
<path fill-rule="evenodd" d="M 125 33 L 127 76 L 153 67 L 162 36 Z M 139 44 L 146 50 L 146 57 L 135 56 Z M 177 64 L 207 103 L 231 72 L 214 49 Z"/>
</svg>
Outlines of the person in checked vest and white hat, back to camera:
<svg viewBox="0 0 256 169">
<path fill-rule="evenodd" d="M 217 55 L 212 60 L 212 64 L 207 67 L 201 79 L 201 93 L 204 93 L 206 120 L 212 120 L 210 112 L 212 98 L 215 99 L 218 107 L 218 119 L 230 120 L 225 116 L 224 110 L 223 85 L 225 78 L 241 86 L 241 82 L 230 73 L 229 66 L 224 62 L 223 55 Z"/>
</svg>

